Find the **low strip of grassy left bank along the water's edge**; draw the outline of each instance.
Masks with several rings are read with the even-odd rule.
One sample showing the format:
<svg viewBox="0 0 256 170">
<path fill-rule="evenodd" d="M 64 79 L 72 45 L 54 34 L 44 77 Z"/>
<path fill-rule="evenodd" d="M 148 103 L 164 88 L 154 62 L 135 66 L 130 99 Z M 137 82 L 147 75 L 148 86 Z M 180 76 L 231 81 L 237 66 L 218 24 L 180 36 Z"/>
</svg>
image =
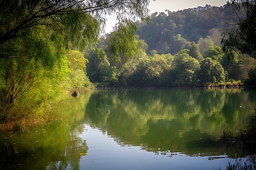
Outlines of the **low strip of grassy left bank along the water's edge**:
<svg viewBox="0 0 256 170">
<path fill-rule="evenodd" d="M 0 131 L 29 131 L 31 128 L 35 128 L 38 125 L 47 126 L 54 122 L 65 121 L 71 117 L 71 113 L 67 112 L 67 110 L 71 109 L 72 111 L 72 109 L 76 108 L 72 103 L 79 101 L 82 104 L 83 100 L 87 101 L 93 93 L 93 90 L 84 89 L 80 90 L 80 92 L 82 92 L 82 95 L 79 97 L 71 96 L 72 93 L 69 92 L 59 101 L 52 102 L 51 104 L 46 103 L 40 105 L 39 108 L 34 108 L 34 110 L 39 110 L 39 113 L 24 114 L 22 117 L 13 117 L 10 118 L 10 120 L 1 122 Z M 15 112 L 19 112 L 19 110 Z"/>
</svg>

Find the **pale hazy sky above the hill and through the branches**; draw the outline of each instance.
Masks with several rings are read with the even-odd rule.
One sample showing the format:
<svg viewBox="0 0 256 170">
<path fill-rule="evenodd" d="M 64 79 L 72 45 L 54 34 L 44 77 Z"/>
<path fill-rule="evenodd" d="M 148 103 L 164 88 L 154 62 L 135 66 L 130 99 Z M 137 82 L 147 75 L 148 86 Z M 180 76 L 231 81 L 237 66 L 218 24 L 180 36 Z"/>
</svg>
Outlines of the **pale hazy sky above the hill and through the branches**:
<svg viewBox="0 0 256 170">
<path fill-rule="evenodd" d="M 223 6 L 226 4 L 227 0 L 156 0 L 150 2 L 148 9 L 150 14 L 154 12 L 163 12 L 164 10 L 169 11 L 178 11 L 187 8 L 193 8 L 197 6 Z M 115 25 L 116 20 L 114 16 L 110 16 L 106 22 L 105 32 L 110 33 L 113 31 L 113 26 Z"/>
</svg>

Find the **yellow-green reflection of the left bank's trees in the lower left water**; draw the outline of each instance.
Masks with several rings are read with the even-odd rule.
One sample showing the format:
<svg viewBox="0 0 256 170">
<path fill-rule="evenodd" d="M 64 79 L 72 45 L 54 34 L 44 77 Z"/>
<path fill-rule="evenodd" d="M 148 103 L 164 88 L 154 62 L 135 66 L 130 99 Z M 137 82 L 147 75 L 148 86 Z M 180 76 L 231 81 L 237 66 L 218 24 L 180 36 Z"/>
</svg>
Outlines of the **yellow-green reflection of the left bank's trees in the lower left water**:
<svg viewBox="0 0 256 170">
<path fill-rule="evenodd" d="M 65 118 L 31 131 L 8 132 L 0 138 L 0 169 L 79 169 L 80 153 L 86 153 L 86 140 L 79 137 L 84 125 L 84 107 L 92 92 L 79 98 L 67 97 L 53 112 Z"/>
</svg>

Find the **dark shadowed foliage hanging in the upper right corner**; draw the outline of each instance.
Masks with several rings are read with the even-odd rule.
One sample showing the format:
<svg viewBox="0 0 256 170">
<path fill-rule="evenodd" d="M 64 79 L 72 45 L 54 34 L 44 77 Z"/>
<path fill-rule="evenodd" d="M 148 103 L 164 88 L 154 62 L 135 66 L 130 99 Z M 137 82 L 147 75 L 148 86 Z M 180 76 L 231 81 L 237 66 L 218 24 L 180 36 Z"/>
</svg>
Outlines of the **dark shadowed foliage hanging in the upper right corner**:
<svg viewBox="0 0 256 170">
<path fill-rule="evenodd" d="M 232 9 L 233 25 L 222 33 L 221 44 L 223 50 L 228 54 L 228 59 L 234 59 L 234 52 L 240 51 L 256 58 L 256 4 L 249 0 L 228 1 L 228 6 Z M 241 16 L 241 14 L 243 14 Z"/>
</svg>

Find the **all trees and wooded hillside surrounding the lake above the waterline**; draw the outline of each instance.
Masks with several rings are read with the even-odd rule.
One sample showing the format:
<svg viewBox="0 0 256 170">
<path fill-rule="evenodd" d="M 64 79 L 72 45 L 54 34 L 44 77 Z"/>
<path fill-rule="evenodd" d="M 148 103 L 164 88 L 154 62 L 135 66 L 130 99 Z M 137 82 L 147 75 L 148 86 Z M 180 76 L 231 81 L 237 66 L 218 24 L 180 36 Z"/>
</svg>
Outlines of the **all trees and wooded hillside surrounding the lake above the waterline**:
<svg viewBox="0 0 256 170">
<path fill-rule="evenodd" d="M 147 0 L 52 2 L 0 1 L 1 122 L 43 113 L 84 87 L 255 85 L 251 1 L 151 15 Z M 100 37 L 114 13 L 117 26 Z M 231 29 L 237 20 L 241 36 Z"/>
</svg>

